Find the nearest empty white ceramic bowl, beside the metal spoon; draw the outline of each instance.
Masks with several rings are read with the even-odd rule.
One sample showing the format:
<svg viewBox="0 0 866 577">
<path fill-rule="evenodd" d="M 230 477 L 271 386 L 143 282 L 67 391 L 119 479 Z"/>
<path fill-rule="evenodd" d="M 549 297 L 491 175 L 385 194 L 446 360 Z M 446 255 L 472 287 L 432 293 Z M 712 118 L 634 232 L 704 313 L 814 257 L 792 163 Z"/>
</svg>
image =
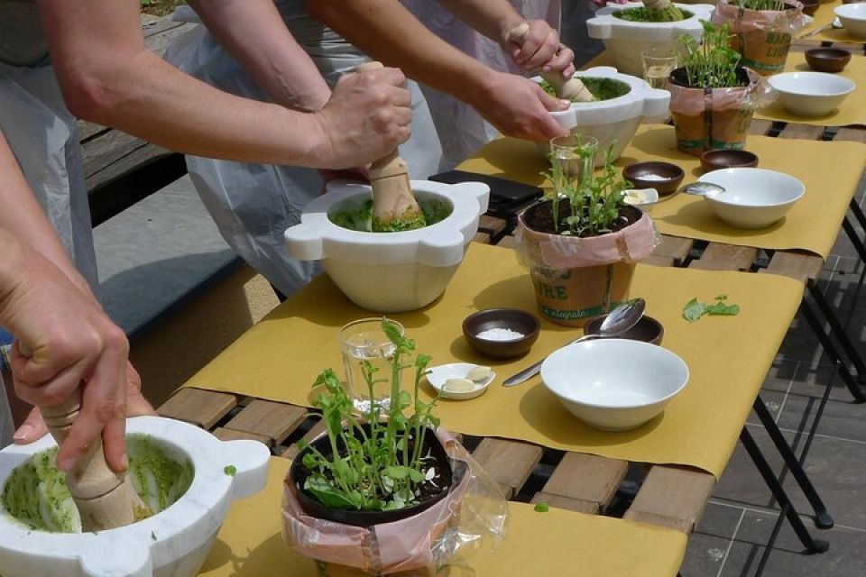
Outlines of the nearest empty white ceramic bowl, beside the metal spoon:
<svg viewBox="0 0 866 577">
<path fill-rule="evenodd" d="M 686 362 L 656 344 L 600 339 L 569 344 L 541 364 L 544 386 L 575 417 L 626 431 L 659 415 L 686 386 Z"/>
</svg>

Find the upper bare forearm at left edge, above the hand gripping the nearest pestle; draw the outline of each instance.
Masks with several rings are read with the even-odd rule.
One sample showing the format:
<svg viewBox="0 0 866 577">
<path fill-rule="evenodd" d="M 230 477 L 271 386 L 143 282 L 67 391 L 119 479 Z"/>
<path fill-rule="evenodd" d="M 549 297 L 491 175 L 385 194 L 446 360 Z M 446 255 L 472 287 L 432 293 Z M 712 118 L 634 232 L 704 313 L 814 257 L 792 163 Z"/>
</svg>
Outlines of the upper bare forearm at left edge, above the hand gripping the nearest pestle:
<svg viewBox="0 0 866 577">
<path fill-rule="evenodd" d="M 42 208 L 33 197 L 12 151 L 0 133 L 0 229 L 5 234 L 29 246 L 47 260 L 54 263 L 64 275 L 88 295 L 91 295 L 87 281 L 78 274 L 69 254 L 60 243 Z M 0 252 L 5 255 L 5 250 Z M 3 261 L 0 259 L 0 261 Z"/>
</svg>

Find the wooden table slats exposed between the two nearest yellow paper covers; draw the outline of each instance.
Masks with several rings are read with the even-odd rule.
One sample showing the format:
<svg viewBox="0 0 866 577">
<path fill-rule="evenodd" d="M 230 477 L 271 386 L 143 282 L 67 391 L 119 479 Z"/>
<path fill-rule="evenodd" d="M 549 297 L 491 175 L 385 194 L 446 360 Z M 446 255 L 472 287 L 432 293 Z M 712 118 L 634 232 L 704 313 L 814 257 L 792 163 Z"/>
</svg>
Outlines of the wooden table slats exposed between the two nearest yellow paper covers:
<svg viewBox="0 0 866 577">
<path fill-rule="evenodd" d="M 307 408 L 203 389 L 180 389 L 159 413 L 223 440 L 261 441 L 287 459 L 297 453 L 297 440 L 324 430 Z M 465 436 L 463 441 L 508 499 L 622 515 L 686 534 L 696 527 L 715 486 L 713 475 L 687 467 L 627 463 L 493 437 Z"/>
</svg>

